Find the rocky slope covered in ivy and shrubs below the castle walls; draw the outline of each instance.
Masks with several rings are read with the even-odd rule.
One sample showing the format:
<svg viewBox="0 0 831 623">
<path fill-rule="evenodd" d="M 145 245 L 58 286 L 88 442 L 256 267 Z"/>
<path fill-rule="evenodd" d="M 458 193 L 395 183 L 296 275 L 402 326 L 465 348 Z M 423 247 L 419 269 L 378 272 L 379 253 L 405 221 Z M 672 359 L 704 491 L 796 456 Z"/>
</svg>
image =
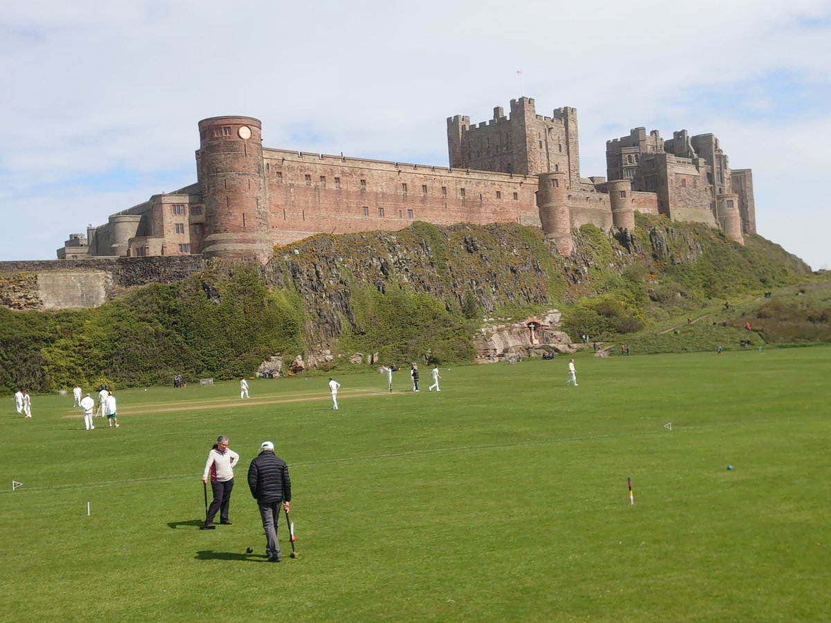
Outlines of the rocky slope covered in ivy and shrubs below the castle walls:
<svg viewBox="0 0 831 623">
<path fill-rule="evenodd" d="M 95 310 L 0 308 L 0 385 L 55 390 L 252 375 L 269 356 L 343 365 L 472 361 L 483 316 L 564 312 L 574 335 L 656 326 L 712 301 L 810 278 L 764 238 L 741 247 L 705 226 L 638 216 L 636 231 L 574 232 L 558 256 L 518 224 L 317 235 L 275 250 L 266 267 L 214 262 L 172 285 L 140 287 Z M 712 300 L 712 301 L 711 301 Z M 332 351 L 334 359 L 322 356 Z"/>
</svg>

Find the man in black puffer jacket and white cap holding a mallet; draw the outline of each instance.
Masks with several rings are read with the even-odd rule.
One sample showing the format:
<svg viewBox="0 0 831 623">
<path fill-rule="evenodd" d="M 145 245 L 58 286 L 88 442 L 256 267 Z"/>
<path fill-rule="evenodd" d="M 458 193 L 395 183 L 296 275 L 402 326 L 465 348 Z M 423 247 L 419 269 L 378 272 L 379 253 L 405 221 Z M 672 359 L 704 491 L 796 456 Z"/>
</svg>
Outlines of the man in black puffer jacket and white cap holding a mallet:
<svg viewBox="0 0 831 623">
<path fill-rule="evenodd" d="M 248 467 L 248 488 L 257 500 L 260 517 L 265 530 L 265 552 L 269 562 L 283 560 L 283 552 L 277 542 L 277 524 L 280 519 L 280 504 L 286 513 L 292 501 L 292 481 L 288 478 L 288 465 L 274 455 L 274 444 L 263 441 L 260 452 Z"/>
</svg>

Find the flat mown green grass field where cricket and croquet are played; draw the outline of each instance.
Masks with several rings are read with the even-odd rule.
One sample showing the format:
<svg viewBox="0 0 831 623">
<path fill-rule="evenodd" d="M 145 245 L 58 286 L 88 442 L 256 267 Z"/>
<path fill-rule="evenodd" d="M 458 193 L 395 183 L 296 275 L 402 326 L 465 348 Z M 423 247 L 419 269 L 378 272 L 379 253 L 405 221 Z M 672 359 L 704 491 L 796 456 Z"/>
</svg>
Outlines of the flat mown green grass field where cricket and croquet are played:
<svg viewBox="0 0 831 623">
<path fill-rule="evenodd" d="M 7 398 L 0 620 L 831 618 L 829 347 L 581 355 L 576 388 L 567 362 L 443 368 L 440 394 L 336 376 L 337 412 L 325 377 L 121 390 L 89 432 L 71 395 Z M 234 525 L 200 532 L 218 434 Z M 279 564 L 245 483 L 264 439 Z"/>
</svg>

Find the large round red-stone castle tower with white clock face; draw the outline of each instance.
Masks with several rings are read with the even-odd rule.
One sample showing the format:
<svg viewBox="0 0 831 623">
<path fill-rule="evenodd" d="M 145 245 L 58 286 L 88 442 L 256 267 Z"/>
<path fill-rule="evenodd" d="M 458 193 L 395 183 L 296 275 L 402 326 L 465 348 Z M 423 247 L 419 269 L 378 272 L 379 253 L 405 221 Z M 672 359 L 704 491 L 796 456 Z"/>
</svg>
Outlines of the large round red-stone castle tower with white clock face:
<svg viewBox="0 0 831 623">
<path fill-rule="evenodd" d="M 260 121 L 243 116 L 199 121 L 197 159 L 204 256 L 268 261 L 273 245 Z"/>
</svg>

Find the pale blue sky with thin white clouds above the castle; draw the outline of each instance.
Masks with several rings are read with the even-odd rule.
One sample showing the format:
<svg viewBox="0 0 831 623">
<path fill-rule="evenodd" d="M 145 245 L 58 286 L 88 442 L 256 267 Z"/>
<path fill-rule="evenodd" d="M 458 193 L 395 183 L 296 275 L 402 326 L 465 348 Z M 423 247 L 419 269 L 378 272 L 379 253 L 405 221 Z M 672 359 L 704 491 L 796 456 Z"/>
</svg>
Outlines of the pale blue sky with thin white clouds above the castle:
<svg viewBox="0 0 831 623">
<path fill-rule="evenodd" d="M 447 117 L 525 95 L 578 109 L 583 177 L 632 128 L 714 134 L 753 169 L 757 232 L 831 268 L 831 0 L 30 0 L 0 13 L 0 71 L 0 261 L 193 184 L 207 117 L 446 166 Z"/>
</svg>

